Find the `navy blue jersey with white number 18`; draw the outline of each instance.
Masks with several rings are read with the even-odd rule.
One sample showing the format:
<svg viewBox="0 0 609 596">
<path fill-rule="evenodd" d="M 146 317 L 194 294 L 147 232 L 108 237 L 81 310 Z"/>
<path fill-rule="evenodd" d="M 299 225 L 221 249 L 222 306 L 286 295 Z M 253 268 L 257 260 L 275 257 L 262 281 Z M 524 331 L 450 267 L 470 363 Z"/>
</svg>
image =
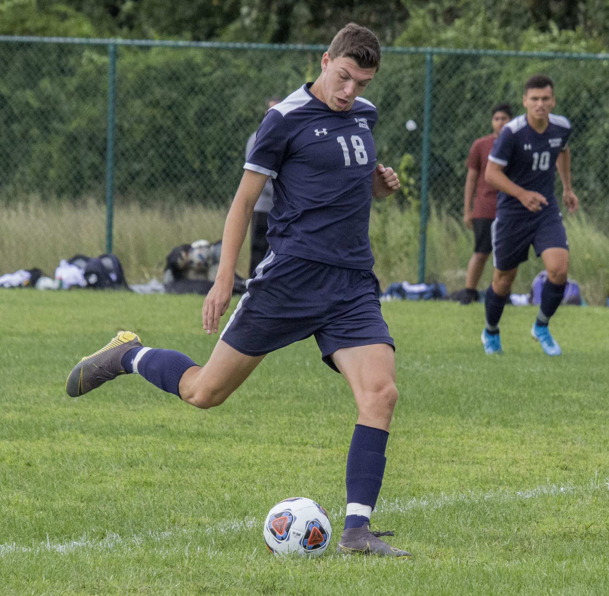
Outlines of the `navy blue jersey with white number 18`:
<svg viewBox="0 0 609 596">
<path fill-rule="evenodd" d="M 267 240 L 276 254 L 370 269 L 376 108 L 357 97 L 333 111 L 311 85 L 270 108 L 244 166 L 273 178 Z"/>
</svg>

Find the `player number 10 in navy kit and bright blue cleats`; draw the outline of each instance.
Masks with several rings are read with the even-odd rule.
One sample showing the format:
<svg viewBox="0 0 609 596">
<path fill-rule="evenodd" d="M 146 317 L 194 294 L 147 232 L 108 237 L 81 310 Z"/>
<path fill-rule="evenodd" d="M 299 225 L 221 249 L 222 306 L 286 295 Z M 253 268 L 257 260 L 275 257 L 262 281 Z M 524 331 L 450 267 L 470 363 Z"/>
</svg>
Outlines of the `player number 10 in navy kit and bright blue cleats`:
<svg viewBox="0 0 609 596">
<path fill-rule="evenodd" d="M 523 98 L 527 113 L 505 125 L 488 156 L 486 180 L 499 192 L 492 228 L 495 274 L 485 296 L 486 326 L 482 331 L 487 354 L 502 351 L 499 319 L 505 296 L 518 265 L 527 260 L 531 244 L 547 270 L 531 335 L 549 356 L 560 354 L 560 346 L 547 328 L 563 299 L 569 265 L 565 226 L 554 196 L 556 169 L 569 213 L 577 209 L 579 201 L 571 190 L 567 146 L 571 124 L 564 116 L 551 114 L 555 103 L 552 79 L 538 74 L 527 80 Z"/>
</svg>

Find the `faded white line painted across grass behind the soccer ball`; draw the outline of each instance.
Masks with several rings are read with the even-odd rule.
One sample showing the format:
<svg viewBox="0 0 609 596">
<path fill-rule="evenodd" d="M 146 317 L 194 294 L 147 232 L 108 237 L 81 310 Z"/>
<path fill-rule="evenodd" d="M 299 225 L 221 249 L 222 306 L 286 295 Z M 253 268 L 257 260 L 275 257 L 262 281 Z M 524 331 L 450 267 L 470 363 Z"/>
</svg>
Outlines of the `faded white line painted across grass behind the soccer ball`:
<svg viewBox="0 0 609 596">
<path fill-rule="evenodd" d="M 543 496 L 560 496 L 563 494 L 576 494 L 576 493 L 594 493 L 597 491 L 609 491 L 609 482 L 599 483 L 597 477 L 594 477 L 587 484 L 578 486 L 559 486 L 555 484 L 547 484 L 537 486 L 533 489 L 524 489 L 521 491 L 510 491 L 508 489 L 500 489 L 498 491 L 488 491 L 487 493 L 468 491 L 466 493 L 457 493 L 452 495 L 440 494 L 439 496 L 428 496 L 414 498 L 404 501 L 403 499 L 396 499 L 393 501 L 387 501 L 381 499 L 381 503 L 375 509 L 375 513 L 406 513 L 407 511 L 417 509 L 439 509 L 442 507 L 450 507 L 459 503 L 481 503 L 486 501 L 509 501 L 509 500 L 521 500 L 521 499 L 538 499 Z M 343 511 L 331 511 L 331 517 L 334 519 L 342 518 Z M 203 532 L 205 534 L 213 535 L 216 533 L 239 533 L 242 531 L 251 530 L 255 525 L 258 524 L 256 517 L 245 517 L 245 519 L 224 519 L 217 524 L 210 525 L 205 528 Z M 200 533 L 195 530 L 157 530 L 147 531 L 141 534 L 133 534 L 131 536 L 123 537 L 114 532 L 108 532 L 105 538 L 98 540 L 87 539 L 86 536 L 82 536 L 77 540 L 71 540 L 68 542 L 54 542 L 47 536 L 46 541 L 40 542 L 39 544 L 32 544 L 32 546 L 23 546 L 13 542 L 12 544 L 0 544 L 0 558 L 10 555 L 13 553 L 44 553 L 44 552 L 55 552 L 59 554 L 72 553 L 77 550 L 96 550 L 96 551 L 113 551 L 113 550 L 130 550 L 140 547 L 144 542 L 158 542 L 166 545 L 167 542 L 171 542 L 171 538 L 177 538 L 178 536 L 191 536 L 195 533 Z M 212 543 L 213 538 L 211 538 Z M 189 544 L 186 546 L 186 552 L 188 553 Z M 164 550 L 164 549 L 163 549 Z M 173 550 L 173 549 L 172 549 Z M 209 547 L 197 547 L 197 553 L 207 553 L 209 556 L 213 556 L 217 551 L 212 551 Z"/>
</svg>

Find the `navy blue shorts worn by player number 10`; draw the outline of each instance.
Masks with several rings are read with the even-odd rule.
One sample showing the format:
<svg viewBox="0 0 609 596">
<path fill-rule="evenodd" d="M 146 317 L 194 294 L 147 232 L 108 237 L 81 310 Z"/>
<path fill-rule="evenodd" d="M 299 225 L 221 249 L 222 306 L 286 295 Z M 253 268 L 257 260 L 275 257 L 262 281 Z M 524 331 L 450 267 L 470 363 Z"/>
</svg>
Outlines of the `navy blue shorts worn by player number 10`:
<svg viewBox="0 0 609 596">
<path fill-rule="evenodd" d="M 529 258 L 529 247 L 540 256 L 546 248 L 569 250 L 567 234 L 558 209 L 535 217 L 498 215 L 491 226 L 493 265 L 499 271 L 509 271 Z"/>
</svg>

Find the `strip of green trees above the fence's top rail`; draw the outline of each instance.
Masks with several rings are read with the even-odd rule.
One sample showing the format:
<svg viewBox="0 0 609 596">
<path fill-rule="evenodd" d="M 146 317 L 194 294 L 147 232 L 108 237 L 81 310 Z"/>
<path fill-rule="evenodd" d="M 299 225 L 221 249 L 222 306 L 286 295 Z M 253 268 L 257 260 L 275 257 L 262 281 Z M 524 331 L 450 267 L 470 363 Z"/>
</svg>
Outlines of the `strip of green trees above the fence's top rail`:
<svg viewBox="0 0 609 596">
<path fill-rule="evenodd" d="M 384 45 L 609 46 L 605 0 L 0 0 L 5 35 L 326 43 L 348 21 Z"/>
</svg>

